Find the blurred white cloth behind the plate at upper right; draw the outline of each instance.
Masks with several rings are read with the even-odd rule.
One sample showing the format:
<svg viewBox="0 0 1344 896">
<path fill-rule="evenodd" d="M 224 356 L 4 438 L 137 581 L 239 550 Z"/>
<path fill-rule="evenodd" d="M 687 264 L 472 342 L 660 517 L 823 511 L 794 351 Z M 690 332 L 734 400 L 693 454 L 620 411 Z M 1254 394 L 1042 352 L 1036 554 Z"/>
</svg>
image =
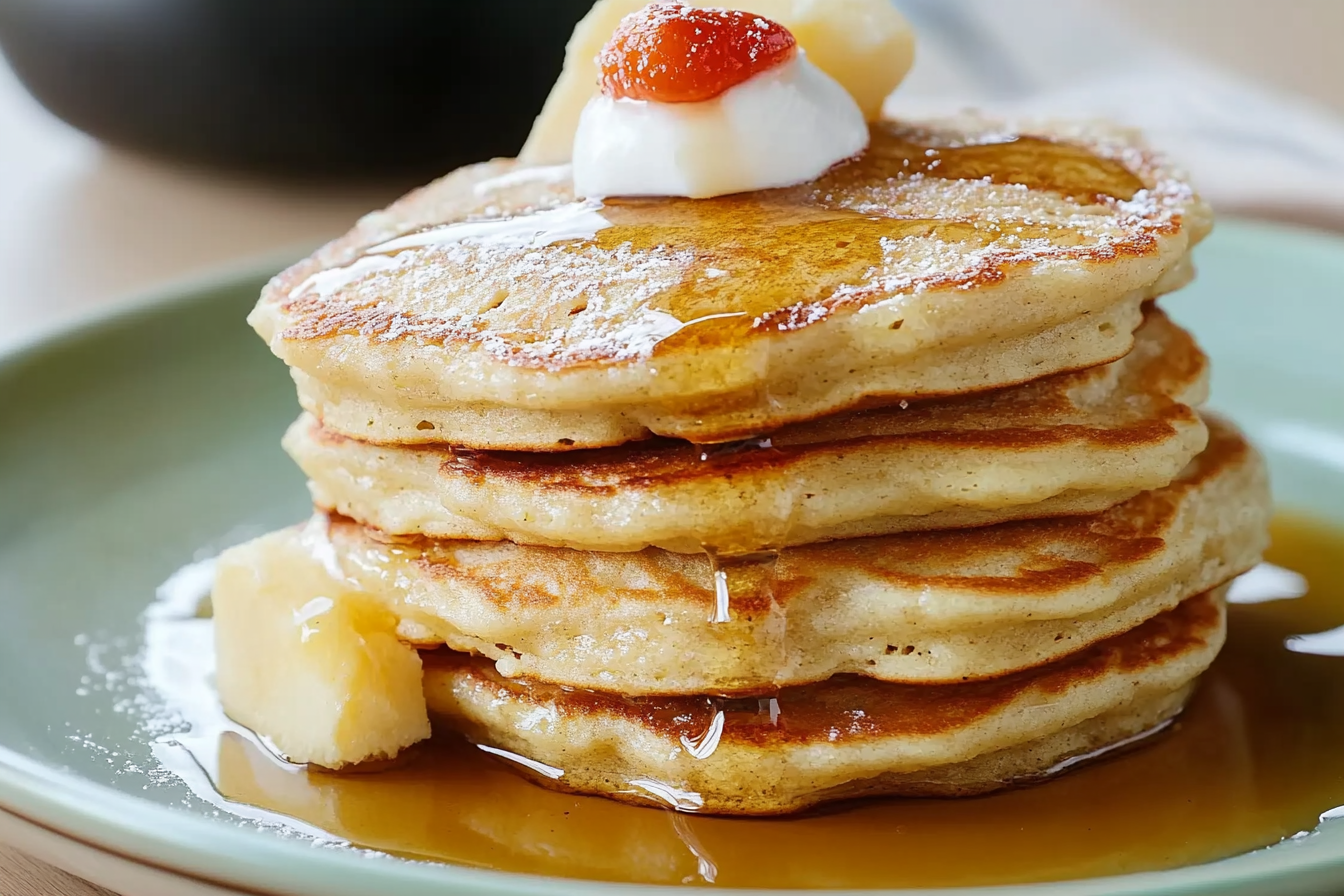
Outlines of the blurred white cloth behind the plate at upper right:
<svg viewBox="0 0 1344 896">
<path fill-rule="evenodd" d="M 921 36 L 896 116 L 964 109 L 1142 128 L 1220 212 L 1344 230 L 1344 120 L 1058 0 L 896 0 Z"/>
</svg>

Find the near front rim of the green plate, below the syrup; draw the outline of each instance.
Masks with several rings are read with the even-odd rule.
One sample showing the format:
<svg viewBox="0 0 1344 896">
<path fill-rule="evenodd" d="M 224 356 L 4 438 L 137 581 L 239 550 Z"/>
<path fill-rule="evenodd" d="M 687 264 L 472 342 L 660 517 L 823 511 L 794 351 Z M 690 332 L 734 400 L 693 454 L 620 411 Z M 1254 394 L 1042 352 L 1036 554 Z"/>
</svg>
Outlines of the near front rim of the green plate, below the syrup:
<svg viewBox="0 0 1344 896">
<path fill-rule="evenodd" d="M 0 811 L 116 858 L 202 884 L 241 889 L 249 896 L 309 892 L 367 896 L 386 887 L 395 889 L 382 892 L 398 896 L 648 896 L 680 889 L 672 884 L 618 884 L 520 875 L 411 861 L 374 850 L 324 849 L 138 799 L 67 775 L 7 747 L 0 747 Z M 1344 852 L 1331 850 L 1313 834 L 1278 844 L 1273 850 L 1271 854 L 1270 848 L 1263 848 L 1169 870 L 1036 884 L 879 891 L 723 888 L 716 892 L 739 896 L 804 892 L 816 896 L 852 896 L 855 892 L 899 896 L 1215 896 L 1224 893 L 1230 884 L 1242 888 L 1277 885 L 1288 876 L 1324 881 L 1325 875 L 1339 883 L 1344 873 Z"/>
</svg>

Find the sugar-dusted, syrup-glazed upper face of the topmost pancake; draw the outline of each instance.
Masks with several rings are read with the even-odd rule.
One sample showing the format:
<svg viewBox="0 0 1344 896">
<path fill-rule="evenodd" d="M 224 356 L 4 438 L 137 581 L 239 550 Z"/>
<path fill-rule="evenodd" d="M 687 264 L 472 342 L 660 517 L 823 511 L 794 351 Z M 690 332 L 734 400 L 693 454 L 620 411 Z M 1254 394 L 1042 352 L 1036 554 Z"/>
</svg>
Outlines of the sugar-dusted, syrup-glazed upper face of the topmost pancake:
<svg viewBox="0 0 1344 896">
<path fill-rule="evenodd" d="M 1042 153 L 1059 159 L 1023 167 Z M 489 207 L 493 219 L 403 224 L 403 236 L 347 258 L 344 273 L 308 265 L 278 278 L 266 301 L 282 304 L 282 340 L 453 345 L 480 352 L 454 363 L 552 371 L 630 364 L 720 314 L 745 325 L 707 328 L 700 344 L 1017 275 L 1044 275 L 1042 289 L 1052 273 L 1081 283 L 1121 258 L 1148 259 L 1156 282 L 1208 219 L 1180 173 L 1133 134 L 981 120 L 886 122 L 868 153 L 814 184 L 718 200 L 594 208 L 573 201 L 556 172 L 532 181 L 493 171 L 481 183 L 492 185 L 461 207 Z M 402 219 L 414 222 L 421 204 L 452 210 L 425 196 Z M 609 226 L 594 227 L 598 218 Z"/>
</svg>

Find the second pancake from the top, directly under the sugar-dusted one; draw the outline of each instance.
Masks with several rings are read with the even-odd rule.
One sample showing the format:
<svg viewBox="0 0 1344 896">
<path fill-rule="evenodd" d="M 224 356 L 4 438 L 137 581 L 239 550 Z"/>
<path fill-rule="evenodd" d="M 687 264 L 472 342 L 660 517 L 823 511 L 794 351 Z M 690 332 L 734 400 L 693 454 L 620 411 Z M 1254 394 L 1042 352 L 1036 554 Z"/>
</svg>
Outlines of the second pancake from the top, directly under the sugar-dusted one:
<svg viewBox="0 0 1344 896">
<path fill-rule="evenodd" d="M 798 423 L 746 445 L 401 447 L 305 415 L 285 447 L 320 508 L 391 535 L 757 551 L 1103 510 L 1167 485 L 1204 447 L 1192 407 L 1207 391 L 1204 355 L 1149 308 L 1134 351 L 1109 365 Z"/>
</svg>

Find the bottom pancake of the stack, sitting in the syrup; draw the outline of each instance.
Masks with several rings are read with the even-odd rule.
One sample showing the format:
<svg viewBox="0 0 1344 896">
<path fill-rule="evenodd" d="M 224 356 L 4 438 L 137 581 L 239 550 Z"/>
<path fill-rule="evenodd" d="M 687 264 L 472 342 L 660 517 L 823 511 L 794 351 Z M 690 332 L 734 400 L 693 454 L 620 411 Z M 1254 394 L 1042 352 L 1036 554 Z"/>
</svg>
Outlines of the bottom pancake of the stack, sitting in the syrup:
<svg viewBox="0 0 1344 896">
<path fill-rule="evenodd" d="M 540 783 L 716 814 L 965 797 L 1060 771 L 1172 719 L 1224 638 L 1222 592 L 1031 672 L 946 686 L 836 678 L 773 699 L 626 699 L 425 658 L 430 715 Z"/>
</svg>

